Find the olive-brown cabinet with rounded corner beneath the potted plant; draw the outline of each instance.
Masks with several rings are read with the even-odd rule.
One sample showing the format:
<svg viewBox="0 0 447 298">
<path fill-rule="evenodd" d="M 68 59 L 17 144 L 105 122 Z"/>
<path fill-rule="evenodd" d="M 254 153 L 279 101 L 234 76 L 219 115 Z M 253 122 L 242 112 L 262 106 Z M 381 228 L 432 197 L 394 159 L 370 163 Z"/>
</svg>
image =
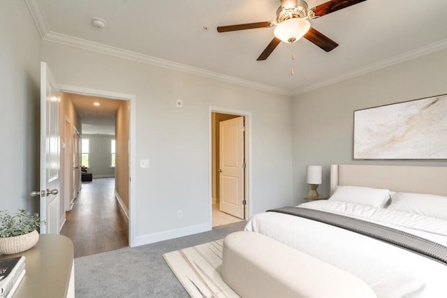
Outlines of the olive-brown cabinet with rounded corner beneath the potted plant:
<svg viewBox="0 0 447 298">
<path fill-rule="evenodd" d="M 57 234 L 41 234 L 36 246 L 0 260 L 23 255 L 25 274 L 14 298 L 75 297 L 73 242 Z"/>
</svg>

